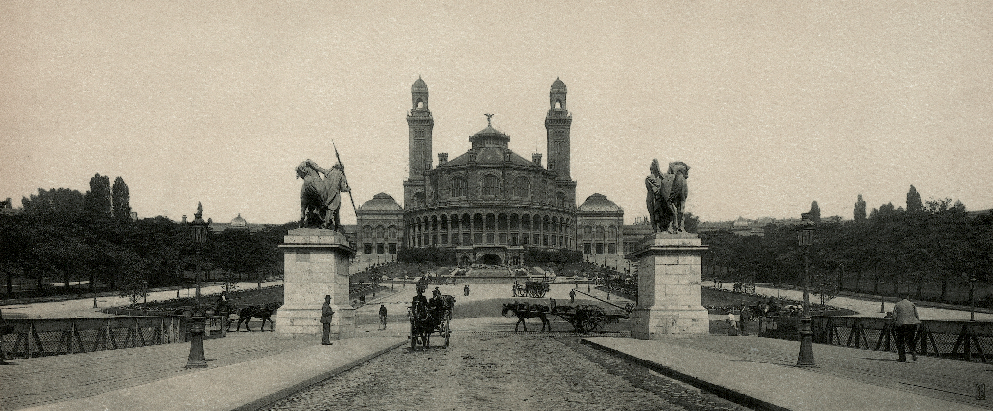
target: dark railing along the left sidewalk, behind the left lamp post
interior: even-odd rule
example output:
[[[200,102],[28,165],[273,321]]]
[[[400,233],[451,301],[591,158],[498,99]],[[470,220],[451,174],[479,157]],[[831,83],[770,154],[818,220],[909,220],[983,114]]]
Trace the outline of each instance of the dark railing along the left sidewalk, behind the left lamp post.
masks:
[[[223,337],[223,319],[206,319],[205,338]],[[5,359],[32,359],[189,341],[190,320],[179,316],[5,319]]]

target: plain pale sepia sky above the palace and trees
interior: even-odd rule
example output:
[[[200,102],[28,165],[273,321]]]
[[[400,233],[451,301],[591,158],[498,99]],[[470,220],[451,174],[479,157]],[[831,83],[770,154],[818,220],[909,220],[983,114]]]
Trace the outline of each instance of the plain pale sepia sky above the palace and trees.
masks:
[[[692,167],[704,221],[851,218],[910,184],[993,207],[989,1],[450,3],[0,2],[0,198],[99,172],[141,217],[284,223],[334,139],[356,205],[399,200],[421,75],[451,157],[484,113],[544,154],[560,77],[577,197],[628,223],[652,158]]]

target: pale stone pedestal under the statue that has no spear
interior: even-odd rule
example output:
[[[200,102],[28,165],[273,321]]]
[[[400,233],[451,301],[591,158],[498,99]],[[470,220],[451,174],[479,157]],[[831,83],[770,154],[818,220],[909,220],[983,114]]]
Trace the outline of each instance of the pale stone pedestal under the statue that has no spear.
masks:
[[[706,336],[707,309],[700,305],[700,256],[696,234],[655,233],[634,253],[638,258],[638,308],[631,336],[662,340]]]

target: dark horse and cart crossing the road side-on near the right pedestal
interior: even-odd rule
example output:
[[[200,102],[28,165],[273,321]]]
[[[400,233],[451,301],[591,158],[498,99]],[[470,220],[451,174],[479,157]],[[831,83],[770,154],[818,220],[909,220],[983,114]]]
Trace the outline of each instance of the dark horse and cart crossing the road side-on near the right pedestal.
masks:
[[[556,316],[565,320],[565,322],[572,325],[573,330],[580,334],[596,333],[603,330],[607,323],[617,322],[622,318],[629,318],[631,311],[635,308],[635,304],[629,303],[625,307],[624,314],[609,313],[605,311],[599,305],[594,304],[580,304],[575,307],[558,305],[555,303],[554,298],[549,298],[550,305],[541,304],[531,304],[528,302],[518,303],[516,301],[513,304],[503,304],[503,311],[501,315],[506,316],[506,313],[513,311],[514,315],[517,316],[517,324],[513,326],[513,332],[517,332],[517,326],[524,324],[524,332],[527,332],[527,323],[524,319],[527,318],[538,318],[541,320],[541,331],[545,331],[545,327],[548,327],[548,331],[552,331],[552,324],[548,321],[548,316]]]

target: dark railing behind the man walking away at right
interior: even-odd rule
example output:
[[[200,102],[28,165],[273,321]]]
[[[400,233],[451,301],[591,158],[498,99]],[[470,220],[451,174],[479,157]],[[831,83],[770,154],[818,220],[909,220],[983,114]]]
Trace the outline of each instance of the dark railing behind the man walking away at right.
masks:
[[[761,318],[759,335],[799,341],[799,320]],[[811,320],[814,343],[897,352],[896,323],[892,319],[813,316]],[[993,360],[993,322],[924,320],[918,327],[914,347],[923,356]]]

